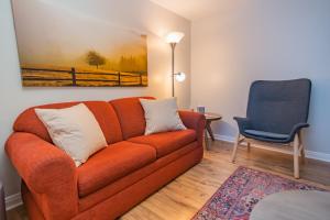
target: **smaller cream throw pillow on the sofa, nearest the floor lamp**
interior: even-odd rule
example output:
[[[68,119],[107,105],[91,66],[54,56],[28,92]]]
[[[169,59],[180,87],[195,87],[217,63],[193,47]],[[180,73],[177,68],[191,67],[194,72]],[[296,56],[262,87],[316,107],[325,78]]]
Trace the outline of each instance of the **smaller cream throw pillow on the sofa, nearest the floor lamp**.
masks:
[[[178,112],[176,98],[163,100],[140,99],[146,121],[144,134],[185,130]]]

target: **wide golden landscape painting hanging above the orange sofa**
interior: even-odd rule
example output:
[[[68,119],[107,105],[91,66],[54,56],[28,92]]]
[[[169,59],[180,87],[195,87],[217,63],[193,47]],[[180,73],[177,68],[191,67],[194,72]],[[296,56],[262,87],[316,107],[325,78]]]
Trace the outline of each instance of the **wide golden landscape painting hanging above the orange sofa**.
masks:
[[[12,0],[23,86],[147,86],[146,35],[75,2]]]

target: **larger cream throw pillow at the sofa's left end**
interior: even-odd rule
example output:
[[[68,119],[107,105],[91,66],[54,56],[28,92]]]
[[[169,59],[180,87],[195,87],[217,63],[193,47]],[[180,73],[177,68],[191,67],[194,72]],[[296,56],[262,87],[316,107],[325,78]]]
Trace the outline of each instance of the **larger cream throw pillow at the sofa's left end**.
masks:
[[[54,144],[65,151],[76,166],[108,145],[99,123],[84,103],[65,109],[35,109],[35,113]]]

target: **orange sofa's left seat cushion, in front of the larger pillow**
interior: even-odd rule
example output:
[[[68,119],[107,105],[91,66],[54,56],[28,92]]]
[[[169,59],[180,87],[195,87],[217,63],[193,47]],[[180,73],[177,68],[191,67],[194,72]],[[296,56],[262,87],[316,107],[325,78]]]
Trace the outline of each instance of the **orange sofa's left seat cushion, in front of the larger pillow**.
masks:
[[[127,141],[111,144],[77,168],[79,196],[85,197],[154,161],[156,151],[152,146]]]

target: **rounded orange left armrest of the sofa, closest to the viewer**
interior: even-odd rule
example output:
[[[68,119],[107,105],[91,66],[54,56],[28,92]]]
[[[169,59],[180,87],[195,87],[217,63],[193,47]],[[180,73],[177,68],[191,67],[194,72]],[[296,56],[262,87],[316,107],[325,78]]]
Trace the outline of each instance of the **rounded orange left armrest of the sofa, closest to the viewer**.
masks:
[[[6,152],[45,219],[65,220],[77,215],[76,166],[65,152],[23,132],[15,132],[8,139]]]

